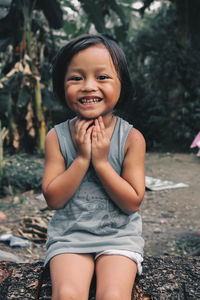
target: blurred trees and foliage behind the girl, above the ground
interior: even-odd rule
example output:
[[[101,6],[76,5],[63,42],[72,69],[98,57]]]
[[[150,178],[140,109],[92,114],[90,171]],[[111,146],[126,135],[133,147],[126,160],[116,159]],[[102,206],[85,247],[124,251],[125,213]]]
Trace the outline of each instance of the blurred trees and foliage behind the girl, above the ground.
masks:
[[[198,0],[0,0],[1,148],[43,153],[47,131],[72,116],[52,93],[52,59],[102,33],[123,48],[135,87],[117,113],[148,151],[188,151],[200,129],[199,16]]]

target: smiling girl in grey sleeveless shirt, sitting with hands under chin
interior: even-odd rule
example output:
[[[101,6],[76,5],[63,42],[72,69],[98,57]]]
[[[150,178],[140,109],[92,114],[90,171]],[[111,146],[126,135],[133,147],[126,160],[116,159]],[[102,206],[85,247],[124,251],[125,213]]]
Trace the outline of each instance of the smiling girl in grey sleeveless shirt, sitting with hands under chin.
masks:
[[[124,53],[103,36],[80,36],[59,51],[53,87],[76,117],[46,137],[52,299],[88,299],[95,270],[97,300],[130,300],[143,260],[145,141],[113,113],[132,95]]]

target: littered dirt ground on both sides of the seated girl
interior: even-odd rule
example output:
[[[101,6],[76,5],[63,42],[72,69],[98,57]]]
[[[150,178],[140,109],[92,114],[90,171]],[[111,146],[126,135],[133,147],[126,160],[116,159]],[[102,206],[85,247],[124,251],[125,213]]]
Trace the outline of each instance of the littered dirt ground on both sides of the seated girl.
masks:
[[[146,175],[188,184],[186,188],[146,191],[140,213],[143,218],[145,255],[200,255],[200,158],[195,154],[147,153]],[[24,262],[43,260],[45,232],[53,211],[40,193],[28,191],[0,199],[6,221],[0,221],[0,234],[23,233],[26,221],[31,245],[10,247],[0,242],[0,250]],[[38,222],[38,223],[37,223]],[[31,224],[37,232],[32,234]],[[39,241],[39,242],[38,242]],[[1,257],[0,260],[4,260]]]

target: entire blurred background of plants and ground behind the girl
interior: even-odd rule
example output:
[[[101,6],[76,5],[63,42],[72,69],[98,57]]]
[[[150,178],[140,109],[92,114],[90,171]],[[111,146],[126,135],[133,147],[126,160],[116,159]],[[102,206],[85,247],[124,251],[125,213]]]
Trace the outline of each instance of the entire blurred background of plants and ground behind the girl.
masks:
[[[83,33],[114,39],[127,56],[135,93],[116,113],[145,136],[146,174],[188,185],[145,194],[146,255],[200,255],[199,157],[190,149],[200,131],[199,0],[0,0],[0,237],[33,241],[0,250],[44,256],[45,136],[72,117],[52,93],[51,63]]]

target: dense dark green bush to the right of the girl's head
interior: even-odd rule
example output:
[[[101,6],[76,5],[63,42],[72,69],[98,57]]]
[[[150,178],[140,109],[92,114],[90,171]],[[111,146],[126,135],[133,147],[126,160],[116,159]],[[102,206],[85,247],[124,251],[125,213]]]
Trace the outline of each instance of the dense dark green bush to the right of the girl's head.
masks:
[[[183,48],[175,6],[144,17],[135,36],[132,70],[136,97],[132,116],[148,149],[189,150],[199,131],[198,49]]]

